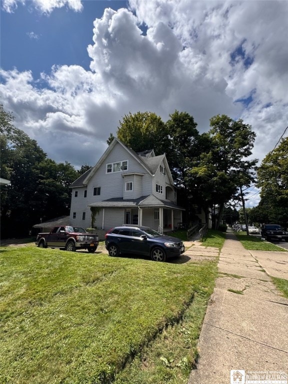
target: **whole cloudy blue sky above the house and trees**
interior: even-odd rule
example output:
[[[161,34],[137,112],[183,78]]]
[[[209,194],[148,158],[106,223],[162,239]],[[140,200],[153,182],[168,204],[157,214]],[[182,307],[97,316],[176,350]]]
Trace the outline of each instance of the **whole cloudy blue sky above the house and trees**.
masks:
[[[260,160],[288,125],[288,1],[0,5],[0,102],[57,162],[94,165],[129,112],[242,118]]]

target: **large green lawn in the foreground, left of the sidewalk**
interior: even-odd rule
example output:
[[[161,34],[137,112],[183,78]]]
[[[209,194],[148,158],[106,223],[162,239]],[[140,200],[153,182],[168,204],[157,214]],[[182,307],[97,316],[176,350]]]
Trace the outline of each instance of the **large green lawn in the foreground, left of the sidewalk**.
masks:
[[[0,382],[180,383],[215,275],[215,263],[2,247]]]

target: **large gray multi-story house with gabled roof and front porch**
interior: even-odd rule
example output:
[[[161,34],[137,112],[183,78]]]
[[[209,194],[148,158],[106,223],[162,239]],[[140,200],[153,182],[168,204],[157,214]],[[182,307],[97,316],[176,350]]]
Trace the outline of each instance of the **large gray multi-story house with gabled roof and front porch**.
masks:
[[[96,165],[70,187],[73,226],[93,225],[107,230],[136,224],[163,232],[182,222],[184,208],[176,203],[176,188],[165,154],[155,156],[153,150],[136,153],[117,138]]]

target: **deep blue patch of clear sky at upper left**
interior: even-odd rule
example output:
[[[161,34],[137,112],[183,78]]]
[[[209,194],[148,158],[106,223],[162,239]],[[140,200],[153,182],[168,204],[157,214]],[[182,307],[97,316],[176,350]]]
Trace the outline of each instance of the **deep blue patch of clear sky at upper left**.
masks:
[[[2,3],[2,1],[1,1]],[[81,65],[89,69],[87,45],[93,40],[93,21],[106,7],[126,7],[127,1],[86,0],[81,11],[67,6],[42,13],[31,1],[17,3],[13,12],[1,10],[1,67],[31,70],[35,77],[52,65]]]

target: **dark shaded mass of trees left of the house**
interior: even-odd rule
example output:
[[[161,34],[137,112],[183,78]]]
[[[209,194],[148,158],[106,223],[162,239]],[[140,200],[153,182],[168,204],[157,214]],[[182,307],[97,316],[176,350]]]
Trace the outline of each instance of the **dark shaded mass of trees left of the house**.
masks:
[[[68,185],[78,174],[68,163],[56,164],[35,140],[13,125],[0,105],[1,235],[25,235],[40,218],[69,214]]]

